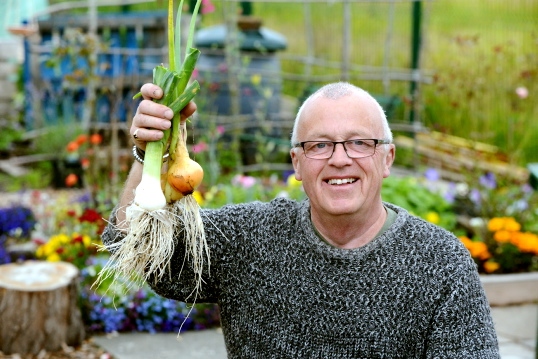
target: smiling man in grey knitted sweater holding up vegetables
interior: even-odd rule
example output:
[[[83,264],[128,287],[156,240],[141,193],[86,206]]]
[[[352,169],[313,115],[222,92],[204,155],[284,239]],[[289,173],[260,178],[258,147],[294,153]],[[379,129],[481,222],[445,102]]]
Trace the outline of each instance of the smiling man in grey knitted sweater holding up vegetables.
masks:
[[[143,87],[147,99],[159,91]],[[140,105],[131,127],[137,145],[160,136],[166,110]],[[468,251],[444,229],[382,202],[391,140],[373,97],[348,83],[326,85],[302,105],[292,134],[295,177],[308,199],[203,210],[211,271],[198,302],[219,304],[230,358],[499,358]],[[172,279],[151,285],[185,300],[194,280],[185,269],[178,279],[184,250],[176,233]],[[109,227],[104,242],[117,234]]]

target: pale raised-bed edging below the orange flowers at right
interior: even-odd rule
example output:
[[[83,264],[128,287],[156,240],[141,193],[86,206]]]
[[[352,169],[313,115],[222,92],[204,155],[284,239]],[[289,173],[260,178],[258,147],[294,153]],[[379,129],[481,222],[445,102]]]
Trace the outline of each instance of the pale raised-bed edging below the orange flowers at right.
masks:
[[[481,275],[489,304],[538,303],[538,272]]]

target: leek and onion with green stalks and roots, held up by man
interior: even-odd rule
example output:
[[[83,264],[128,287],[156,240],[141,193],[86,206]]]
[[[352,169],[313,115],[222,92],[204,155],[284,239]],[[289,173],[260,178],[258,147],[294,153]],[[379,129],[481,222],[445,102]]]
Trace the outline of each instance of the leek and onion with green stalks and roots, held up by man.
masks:
[[[195,302],[203,282],[206,260],[209,267],[209,249],[200,208],[191,195],[200,185],[203,171],[189,158],[186,126],[181,122],[180,111],[200,89],[197,81],[190,85],[189,81],[200,55],[199,50],[192,48],[192,39],[201,0],[197,1],[192,14],[187,51],[182,62],[176,49],[180,48],[183,0],[179,4],[175,32],[173,3],[173,0],[168,1],[169,68],[161,65],[153,70],[153,82],[163,90],[163,97],[155,101],[172,109],[172,126],[164,131],[160,141],[146,145],[142,179],[135,190],[133,203],[126,209],[129,230],[122,240],[108,247],[112,253],[110,260],[94,285],[109,277],[113,281],[127,277],[131,278],[133,285],[141,285],[144,281],[157,282],[169,275],[170,260],[175,250],[175,228],[179,226],[185,236],[186,257],[192,263],[196,276],[192,293],[192,301]],[[168,159],[163,161],[167,151]]]

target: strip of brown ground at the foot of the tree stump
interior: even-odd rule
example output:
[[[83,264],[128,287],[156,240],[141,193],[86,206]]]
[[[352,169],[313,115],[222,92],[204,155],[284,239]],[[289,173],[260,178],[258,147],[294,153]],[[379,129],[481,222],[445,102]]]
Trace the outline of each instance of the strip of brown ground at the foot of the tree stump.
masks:
[[[114,359],[114,357],[89,339],[76,348],[65,346],[57,352],[42,350],[37,355],[6,355],[0,352],[0,359]]]

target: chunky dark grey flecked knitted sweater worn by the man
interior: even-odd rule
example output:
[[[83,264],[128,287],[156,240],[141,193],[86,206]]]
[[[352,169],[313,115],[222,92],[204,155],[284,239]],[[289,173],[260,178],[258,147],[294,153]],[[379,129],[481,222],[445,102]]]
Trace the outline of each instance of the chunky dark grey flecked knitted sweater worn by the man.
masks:
[[[499,358],[468,251],[385,205],[396,221],[351,250],[317,237],[308,200],[203,210],[211,268],[197,302],[219,304],[229,358]],[[117,237],[109,226],[103,241]],[[185,300],[192,273],[178,279],[176,252],[173,280],[150,285]]]

